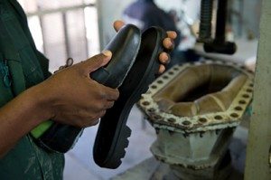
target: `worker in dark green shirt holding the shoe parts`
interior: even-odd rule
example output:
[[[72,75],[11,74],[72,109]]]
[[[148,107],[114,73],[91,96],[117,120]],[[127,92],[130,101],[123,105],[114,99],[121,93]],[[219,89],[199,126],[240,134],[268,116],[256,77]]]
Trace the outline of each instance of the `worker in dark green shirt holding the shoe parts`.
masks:
[[[123,25],[117,21],[114,27]],[[166,49],[175,37],[168,32]],[[79,128],[96,125],[114,105],[118,90],[93,81],[89,73],[111,57],[104,51],[51,75],[21,5],[0,1],[0,179],[62,179],[63,154],[38,147],[29,132],[48,119]],[[162,52],[159,60],[162,73],[168,54]]]

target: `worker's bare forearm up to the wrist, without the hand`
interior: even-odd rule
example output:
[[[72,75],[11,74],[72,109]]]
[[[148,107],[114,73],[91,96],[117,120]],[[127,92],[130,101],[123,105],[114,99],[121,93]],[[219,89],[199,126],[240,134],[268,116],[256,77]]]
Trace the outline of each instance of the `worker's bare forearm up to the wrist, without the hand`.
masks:
[[[50,118],[46,109],[36,87],[25,90],[0,109],[0,157],[14,147],[21,137]]]

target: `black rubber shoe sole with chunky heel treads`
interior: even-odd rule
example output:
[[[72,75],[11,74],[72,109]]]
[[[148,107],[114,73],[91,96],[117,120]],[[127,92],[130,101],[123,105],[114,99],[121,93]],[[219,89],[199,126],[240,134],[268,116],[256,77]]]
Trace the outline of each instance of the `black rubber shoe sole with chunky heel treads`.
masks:
[[[101,118],[93,147],[96,164],[101,167],[117,168],[125,156],[131,129],[126,120],[136,101],[154,81],[159,71],[159,54],[163,52],[166,33],[161,28],[152,27],[142,34],[140,50],[125,81],[118,88],[119,98],[113,108],[107,109]]]

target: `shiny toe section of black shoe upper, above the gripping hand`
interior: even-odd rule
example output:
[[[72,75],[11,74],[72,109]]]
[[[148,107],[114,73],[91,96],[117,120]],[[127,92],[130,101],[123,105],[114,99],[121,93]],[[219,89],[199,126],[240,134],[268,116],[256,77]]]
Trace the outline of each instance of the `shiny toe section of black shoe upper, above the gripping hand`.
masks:
[[[91,73],[90,77],[107,87],[118,88],[135,62],[140,43],[141,33],[135,25],[127,24],[122,27],[105,48],[113,53],[111,61]]]

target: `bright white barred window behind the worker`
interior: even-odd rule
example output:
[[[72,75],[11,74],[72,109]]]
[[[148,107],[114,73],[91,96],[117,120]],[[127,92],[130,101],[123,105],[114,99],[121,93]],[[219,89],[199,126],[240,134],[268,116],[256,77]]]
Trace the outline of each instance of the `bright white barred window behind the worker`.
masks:
[[[19,0],[37,49],[55,71],[71,57],[80,62],[99,52],[96,0]]]

